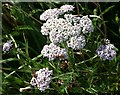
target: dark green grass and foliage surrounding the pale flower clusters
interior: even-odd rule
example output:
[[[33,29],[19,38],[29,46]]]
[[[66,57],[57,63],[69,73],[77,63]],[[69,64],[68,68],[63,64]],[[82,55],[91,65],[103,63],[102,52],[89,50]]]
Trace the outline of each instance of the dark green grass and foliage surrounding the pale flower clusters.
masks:
[[[67,65],[58,60],[49,62],[40,54],[43,46],[49,42],[40,32],[43,22],[39,20],[39,16],[49,8],[59,8],[64,4],[75,7],[73,14],[94,14],[102,18],[102,20],[91,18],[94,32],[86,35],[87,44],[81,51],[82,55],[71,54]],[[12,49],[3,53],[0,61],[2,93],[4,95],[120,93],[119,6],[120,2],[2,3],[2,42],[4,44],[7,40],[13,41]],[[95,50],[105,37],[118,48],[117,56],[112,61],[103,61],[95,57]],[[32,71],[43,67],[54,70],[50,89],[45,92],[37,89],[19,92],[20,88],[30,85]],[[62,81],[63,84],[60,84]]]

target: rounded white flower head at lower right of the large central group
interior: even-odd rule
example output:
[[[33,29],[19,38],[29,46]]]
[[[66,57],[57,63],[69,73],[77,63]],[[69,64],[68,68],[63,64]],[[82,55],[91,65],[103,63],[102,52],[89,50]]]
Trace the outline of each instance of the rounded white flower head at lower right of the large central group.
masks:
[[[85,44],[85,37],[83,35],[71,37],[67,42],[68,47],[71,47],[74,50],[84,48]]]

